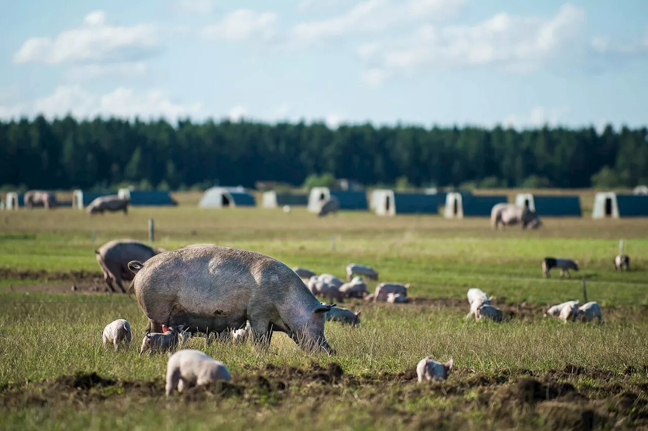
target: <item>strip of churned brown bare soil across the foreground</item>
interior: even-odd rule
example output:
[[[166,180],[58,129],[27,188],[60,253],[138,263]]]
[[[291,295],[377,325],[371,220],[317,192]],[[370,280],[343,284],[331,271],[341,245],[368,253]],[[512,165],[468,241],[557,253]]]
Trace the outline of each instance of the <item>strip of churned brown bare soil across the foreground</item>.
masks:
[[[638,371],[643,372],[643,371]],[[574,379],[589,376],[601,385],[615,377],[619,390],[610,392],[579,387]],[[645,376],[648,377],[648,376]],[[572,381],[566,381],[572,379]],[[422,382],[415,370],[375,375],[350,375],[337,363],[312,364],[309,368],[268,364],[247,368],[229,382],[194,386],[183,393],[165,395],[163,379],[124,381],[96,373],[63,375],[54,379],[0,388],[0,408],[52,408],[55,406],[99,406],[150,401],[160,408],[174,403],[195,404],[214,399],[236,399],[237,405],[273,408],[281,404],[320,403],[324,399],[364,400],[397,414],[414,428],[441,425],[470,409],[482,409],[492,420],[515,425],[520,415],[536,417],[551,429],[592,429],[619,421],[627,426],[648,426],[645,384],[630,381],[624,373],[573,365],[562,370],[502,370],[472,372],[459,367],[447,381]],[[354,395],[349,395],[353,393]],[[440,408],[406,408],[413,400],[443,398]],[[165,400],[173,401],[167,404]],[[160,404],[161,403],[161,404]],[[116,404],[115,404],[116,405]],[[385,411],[387,411],[385,410]],[[530,420],[530,419],[529,419]]]

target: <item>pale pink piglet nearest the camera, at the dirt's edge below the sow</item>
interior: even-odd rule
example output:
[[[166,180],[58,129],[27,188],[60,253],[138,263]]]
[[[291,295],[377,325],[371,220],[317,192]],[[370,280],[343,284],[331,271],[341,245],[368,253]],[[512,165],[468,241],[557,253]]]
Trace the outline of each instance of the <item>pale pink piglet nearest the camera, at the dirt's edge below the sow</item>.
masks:
[[[207,353],[200,350],[184,349],[169,355],[167,362],[167,395],[178,388],[178,392],[186,387],[202,386],[219,380],[229,381],[229,371],[225,364],[211,359]]]

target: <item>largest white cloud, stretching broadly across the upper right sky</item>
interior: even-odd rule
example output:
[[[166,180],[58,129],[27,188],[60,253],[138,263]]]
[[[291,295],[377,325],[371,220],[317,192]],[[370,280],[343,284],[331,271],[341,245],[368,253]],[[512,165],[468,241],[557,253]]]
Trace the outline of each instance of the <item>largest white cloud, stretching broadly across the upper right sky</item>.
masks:
[[[365,82],[373,85],[422,67],[500,64],[527,72],[572,48],[584,21],[584,10],[566,3],[549,19],[500,13],[472,26],[425,24],[406,38],[362,45],[357,54],[369,69]]]

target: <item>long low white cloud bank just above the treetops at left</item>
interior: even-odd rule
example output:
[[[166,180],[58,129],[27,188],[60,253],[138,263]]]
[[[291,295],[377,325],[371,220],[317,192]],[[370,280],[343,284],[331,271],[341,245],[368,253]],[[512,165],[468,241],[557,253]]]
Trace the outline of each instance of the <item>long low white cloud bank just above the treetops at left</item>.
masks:
[[[117,116],[121,118],[159,118],[176,120],[181,116],[198,113],[201,104],[181,104],[170,100],[168,94],[154,90],[135,93],[132,89],[118,87],[111,93],[97,95],[80,85],[60,85],[54,93],[44,98],[15,105],[0,106],[0,118],[43,115],[62,117],[71,113],[76,118]]]

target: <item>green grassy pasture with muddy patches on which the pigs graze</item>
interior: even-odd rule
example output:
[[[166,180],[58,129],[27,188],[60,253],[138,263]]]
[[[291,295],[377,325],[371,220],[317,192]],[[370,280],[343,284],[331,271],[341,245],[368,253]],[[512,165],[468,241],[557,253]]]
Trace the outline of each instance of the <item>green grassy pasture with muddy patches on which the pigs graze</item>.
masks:
[[[303,208],[130,208],[89,217],[71,208],[0,213],[0,428],[6,429],[589,429],[648,426],[648,222],[543,219],[491,230],[489,219],[377,217]],[[147,320],[109,294],[93,253],[110,239],[157,247],[214,243],[255,250],[343,278],[371,265],[379,282],[411,283],[406,304],[345,299],[357,328],[327,322],[331,357],[277,334],[269,351],[194,337],[229,368],[229,383],[164,395],[167,356],[139,356]],[[93,241],[93,231],[94,241]],[[631,271],[616,272],[619,238]],[[571,279],[542,278],[545,256],[578,260]],[[566,300],[603,308],[601,325],[544,318]],[[72,286],[76,291],[72,291]],[[376,282],[369,282],[369,291]],[[494,297],[507,320],[465,320],[466,292]],[[322,299],[323,300],[323,299]],[[101,345],[116,318],[128,351]],[[417,362],[454,358],[447,381],[417,383]]]

